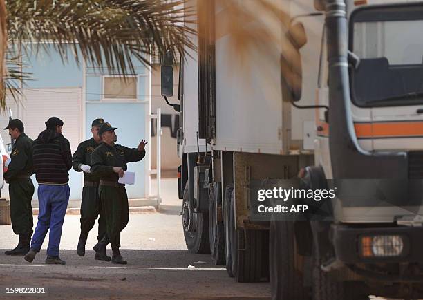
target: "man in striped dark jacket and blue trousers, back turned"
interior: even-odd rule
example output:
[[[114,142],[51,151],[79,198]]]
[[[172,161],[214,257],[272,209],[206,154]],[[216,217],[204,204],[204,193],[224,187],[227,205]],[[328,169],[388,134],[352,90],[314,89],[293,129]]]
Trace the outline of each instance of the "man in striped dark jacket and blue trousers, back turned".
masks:
[[[72,154],[69,141],[62,135],[63,121],[57,117],[47,120],[47,129],[39,133],[32,144],[32,159],[35,178],[38,182],[39,214],[31,248],[25,256],[30,263],[41,250],[48,229],[50,235],[47,247],[46,263],[64,265],[59,258],[59,245],[66,208],[68,207],[69,189],[68,171],[72,167]]]

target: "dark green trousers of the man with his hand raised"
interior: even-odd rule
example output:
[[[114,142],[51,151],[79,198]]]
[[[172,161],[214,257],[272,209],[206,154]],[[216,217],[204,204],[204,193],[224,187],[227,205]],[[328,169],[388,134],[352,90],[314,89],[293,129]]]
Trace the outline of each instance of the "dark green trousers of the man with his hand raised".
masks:
[[[120,246],[120,232],[129,221],[128,195],[125,187],[100,185],[100,200],[106,216],[107,235],[112,249]]]

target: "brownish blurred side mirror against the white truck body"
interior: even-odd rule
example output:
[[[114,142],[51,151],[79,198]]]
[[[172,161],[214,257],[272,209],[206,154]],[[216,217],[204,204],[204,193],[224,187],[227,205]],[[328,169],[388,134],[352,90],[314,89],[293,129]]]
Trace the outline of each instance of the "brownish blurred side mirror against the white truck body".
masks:
[[[297,102],[301,99],[303,69],[299,49],[307,43],[306,30],[301,22],[290,26],[285,34],[289,46],[281,53],[282,100]]]

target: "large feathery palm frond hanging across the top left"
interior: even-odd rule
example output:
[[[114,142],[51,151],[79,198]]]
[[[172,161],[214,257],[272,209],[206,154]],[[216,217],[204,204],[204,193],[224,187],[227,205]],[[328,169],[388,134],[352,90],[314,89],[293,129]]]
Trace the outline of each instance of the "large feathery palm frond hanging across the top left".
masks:
[[[151,51],[164,53],[182,46],[195,48],[185,39],[193,30],[184,26],[190,12],[183,0],[9,0],[8,32],[12,41],[35,46],[52,41],[55,50],[66,53],[70,44],[76,62],[81,58],[122,75],[133,73],[131,57],[148,65]],[[35,5],[36,3],[36,5]],[[62,59],[68,59],[63,55]]]

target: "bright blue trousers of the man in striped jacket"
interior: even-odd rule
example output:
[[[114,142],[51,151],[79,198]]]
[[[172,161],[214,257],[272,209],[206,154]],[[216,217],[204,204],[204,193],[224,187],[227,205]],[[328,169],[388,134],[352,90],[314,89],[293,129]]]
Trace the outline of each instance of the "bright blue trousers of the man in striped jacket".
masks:
[[[31,242],[33,250],[39,252],[47,231],[50,229],[47,255],[59,256],[60,238],[69,196],[71,196],[69,185],[39,185],[38,222]]]

